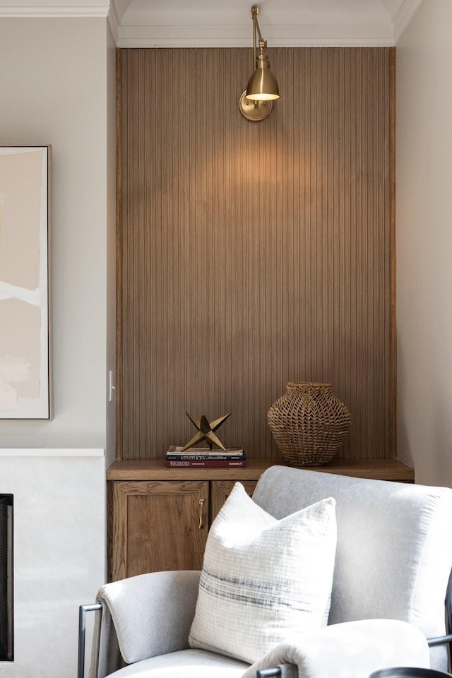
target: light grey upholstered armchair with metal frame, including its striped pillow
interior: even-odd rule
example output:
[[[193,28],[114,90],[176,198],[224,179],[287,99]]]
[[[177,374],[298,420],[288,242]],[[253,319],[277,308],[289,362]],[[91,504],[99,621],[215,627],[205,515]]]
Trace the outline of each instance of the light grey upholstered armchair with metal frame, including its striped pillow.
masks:
[[[78,678],[90,609],[90,678],[446,671],[451,519],[452,489],[273,466],[252,501],[234,487],[201,578],[144,574],[81,607]]]

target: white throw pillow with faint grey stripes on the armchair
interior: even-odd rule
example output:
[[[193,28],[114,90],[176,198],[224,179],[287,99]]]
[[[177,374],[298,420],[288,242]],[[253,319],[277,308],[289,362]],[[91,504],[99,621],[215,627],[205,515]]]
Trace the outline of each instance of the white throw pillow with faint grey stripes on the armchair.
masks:
[[[335,500],[277,521],[237,482],[213,522],[189,644],[250,664],[328,622]]]

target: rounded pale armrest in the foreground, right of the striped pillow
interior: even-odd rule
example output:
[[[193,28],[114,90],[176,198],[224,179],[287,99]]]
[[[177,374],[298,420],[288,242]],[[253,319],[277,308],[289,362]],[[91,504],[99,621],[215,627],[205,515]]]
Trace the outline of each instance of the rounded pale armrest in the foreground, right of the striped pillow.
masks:
[[[287,678],[367,678],[391,666],[428,668],[427,639],[407,622],[364,619],[290,638],[249,667],[242,678],[256,678],[258,670],[270,667],[280,667],[280,675]]]

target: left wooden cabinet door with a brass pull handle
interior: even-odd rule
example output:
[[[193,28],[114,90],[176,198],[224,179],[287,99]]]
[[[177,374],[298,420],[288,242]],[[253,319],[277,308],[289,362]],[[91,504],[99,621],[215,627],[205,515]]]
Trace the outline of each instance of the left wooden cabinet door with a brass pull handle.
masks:
[[[112,482],[109,579],[201,569],[208,531],[208,482]]]

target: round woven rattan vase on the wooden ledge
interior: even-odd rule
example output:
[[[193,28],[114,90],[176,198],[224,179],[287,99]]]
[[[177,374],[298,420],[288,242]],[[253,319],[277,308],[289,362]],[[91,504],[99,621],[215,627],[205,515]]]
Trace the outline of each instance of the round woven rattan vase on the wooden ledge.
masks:
[[[328,463],[347,434],[350,412],[331,383],[289,381],[286,388],[267,412],[280,453],[292,466]]]

